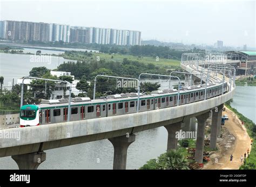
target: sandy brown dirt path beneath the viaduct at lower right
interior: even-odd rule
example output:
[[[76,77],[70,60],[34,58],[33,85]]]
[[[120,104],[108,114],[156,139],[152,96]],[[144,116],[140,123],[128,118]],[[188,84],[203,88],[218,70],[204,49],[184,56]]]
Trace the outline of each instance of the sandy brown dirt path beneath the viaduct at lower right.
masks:
[[[203,169],[239,169],[241,164],[241,155],[247,155],[247,148],[251,152],[251,139],[246,132],[246,128],[231,110],[227,109],[223,115],[227,114],[229,120],[225,121],[224,138],[218,139],[219,150],[213,154],[211,161],[205,164]],[[233,161],[230,161],[230,155],[233,155]]]

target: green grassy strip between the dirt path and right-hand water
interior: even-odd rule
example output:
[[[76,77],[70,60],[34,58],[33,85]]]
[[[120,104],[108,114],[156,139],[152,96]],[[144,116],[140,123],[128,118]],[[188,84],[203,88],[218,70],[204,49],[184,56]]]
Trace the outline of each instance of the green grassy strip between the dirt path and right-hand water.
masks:
[[[253,144],[251,148],[250,155],[246,158],[245,164],[240,167],[240,169],[256,169],[256,126],[251,119],[246,118],[244,115],[239,113],[237,109],[231,107],[230,103],[232,99],[225,103],[225,106],[228,107],[231,111],[237,114],[238,118],[241,121],[244,121],[244,125],[246,127],[247,133],[253,139]]]

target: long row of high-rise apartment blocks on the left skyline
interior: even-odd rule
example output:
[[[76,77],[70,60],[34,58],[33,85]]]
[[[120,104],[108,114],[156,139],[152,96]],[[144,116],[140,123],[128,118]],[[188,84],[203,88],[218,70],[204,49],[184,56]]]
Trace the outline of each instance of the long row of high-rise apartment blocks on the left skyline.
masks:
[[[0,21],[0,38],[14,41],[63,41],[89,44],[140,45],[141,32],[29,21]]]

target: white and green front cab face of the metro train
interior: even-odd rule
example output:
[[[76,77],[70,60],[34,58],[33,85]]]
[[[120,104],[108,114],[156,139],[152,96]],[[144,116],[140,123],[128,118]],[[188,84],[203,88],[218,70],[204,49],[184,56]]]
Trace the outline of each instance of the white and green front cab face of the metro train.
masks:
[[[39,125],[39,107],[36,105],[23,105],[19,114],[21,127]]]

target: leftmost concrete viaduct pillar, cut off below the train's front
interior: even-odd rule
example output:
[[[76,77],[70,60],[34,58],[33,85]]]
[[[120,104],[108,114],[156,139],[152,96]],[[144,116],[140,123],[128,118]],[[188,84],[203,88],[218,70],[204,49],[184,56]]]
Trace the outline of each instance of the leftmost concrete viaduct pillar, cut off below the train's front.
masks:
[[[37,169],[46,160],[46,153],[36,152],[22,155],[12,155],[12,159],[18,164],[19,169]]]

